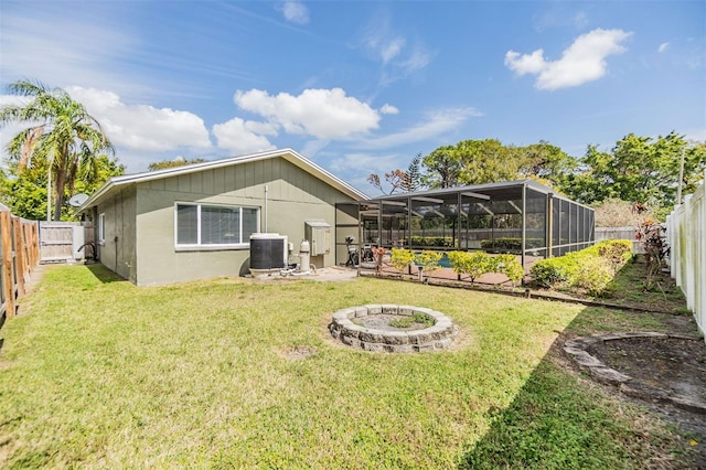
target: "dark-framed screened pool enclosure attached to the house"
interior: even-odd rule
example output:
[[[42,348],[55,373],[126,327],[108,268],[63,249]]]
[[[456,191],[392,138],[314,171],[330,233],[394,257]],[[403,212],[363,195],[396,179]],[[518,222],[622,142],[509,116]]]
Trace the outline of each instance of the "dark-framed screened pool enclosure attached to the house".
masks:
[[[561,256],[593,244],[593,210],[536,181],[400,193],[336,205],[336,263],[356,245]],[[349,238],[350,243],[350,238]]]

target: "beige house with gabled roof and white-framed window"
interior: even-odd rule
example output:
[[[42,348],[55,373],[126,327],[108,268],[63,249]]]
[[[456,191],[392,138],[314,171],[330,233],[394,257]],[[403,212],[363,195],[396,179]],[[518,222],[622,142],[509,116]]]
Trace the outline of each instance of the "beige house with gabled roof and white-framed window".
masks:
[[[335,234],[342,202],[366,195],[291,149],[116,177],[79,209],[95,225],[97,258],[138,286],[249,270],[249,235],[278,233],[293,247],[327,231],[311,263],[345,260]],[[336,250],[342,253],[336,253]]]

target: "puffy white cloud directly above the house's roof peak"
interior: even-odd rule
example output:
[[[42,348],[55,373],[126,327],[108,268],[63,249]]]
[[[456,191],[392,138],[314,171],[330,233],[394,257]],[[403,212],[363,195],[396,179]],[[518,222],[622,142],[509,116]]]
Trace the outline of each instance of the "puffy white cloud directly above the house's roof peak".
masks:
[[[281,126],[285,131],[318,139],[344,139],[376,129],[379,114],[367,104],[346,96],[341,88],[304,89],[299,96],[269,95],[260,89],[237,90],[235,104],[242,109]]]

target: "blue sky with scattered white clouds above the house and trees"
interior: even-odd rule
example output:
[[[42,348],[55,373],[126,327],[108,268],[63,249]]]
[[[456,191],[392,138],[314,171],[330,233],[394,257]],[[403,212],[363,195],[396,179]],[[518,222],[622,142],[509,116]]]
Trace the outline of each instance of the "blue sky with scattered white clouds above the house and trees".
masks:
[[[706,2],[2,0],[20,78],[84,103],[129,173],[291,147],[374,195],[464,139],[706,140]]]

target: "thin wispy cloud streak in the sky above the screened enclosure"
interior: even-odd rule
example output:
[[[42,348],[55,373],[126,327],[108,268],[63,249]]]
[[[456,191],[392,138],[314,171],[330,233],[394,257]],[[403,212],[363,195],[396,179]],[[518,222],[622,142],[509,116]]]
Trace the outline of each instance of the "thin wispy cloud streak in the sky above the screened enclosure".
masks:
[[[427,115],[426,119],[402,132],[362,141],[361,147],[386,149],[407,143],[435,139],[458,129],[471,117],[483,116],[474,108],[437,109]]]

